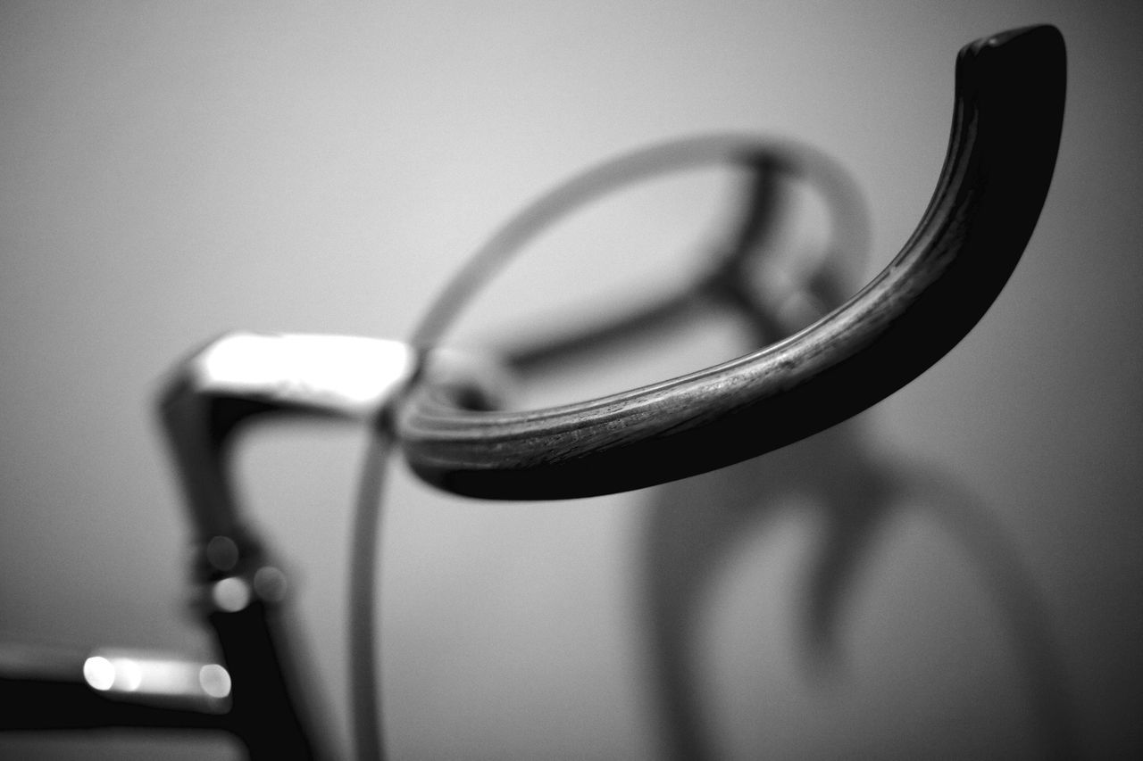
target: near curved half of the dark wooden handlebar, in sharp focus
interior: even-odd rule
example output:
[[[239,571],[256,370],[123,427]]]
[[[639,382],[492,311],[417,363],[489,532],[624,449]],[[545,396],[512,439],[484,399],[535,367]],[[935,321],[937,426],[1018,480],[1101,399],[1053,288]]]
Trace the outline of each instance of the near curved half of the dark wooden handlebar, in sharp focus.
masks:
[[[398,420],[409,464],[469,496],[612,494],[765,454],[885,399],[968,334],[1016,266],[1052,182],[1065,80],[1052,26],[962,48],[949,152],[916,232],[805,330],[700,373],[549,409],[469,410],[416,386]]]

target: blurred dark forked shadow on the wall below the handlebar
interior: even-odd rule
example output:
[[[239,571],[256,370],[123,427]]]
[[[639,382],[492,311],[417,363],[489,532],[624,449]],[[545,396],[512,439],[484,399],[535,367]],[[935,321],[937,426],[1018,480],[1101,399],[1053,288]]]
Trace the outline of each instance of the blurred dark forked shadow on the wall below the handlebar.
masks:
[[[792,502],[791,497],[797,497]],[[807,499],[808,497],[808,499]],[[846,609],[874,545],[905,510],[926,508],[991,592],[1013,642],[1040,758],[1074,759],[1069,688],[1044,602],[1001,526],[969,490],[930,467],[870,451],[861,418],[766,456],[654,491],[640,547],[647,688],[662,756],[718,758],[697,631],[726,560],[791,504],[817,513],[824,532],[791,625],[807,678],[844,679]]]

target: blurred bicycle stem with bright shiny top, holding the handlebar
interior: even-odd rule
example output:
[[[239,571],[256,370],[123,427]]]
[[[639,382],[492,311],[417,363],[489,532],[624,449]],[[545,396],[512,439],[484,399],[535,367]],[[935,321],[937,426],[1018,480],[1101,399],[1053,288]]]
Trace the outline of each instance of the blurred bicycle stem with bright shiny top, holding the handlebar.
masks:
[[[381,338],[239,331],[181,361],[158,406],[197,539],[251,538],[230,473],[235,436],[251,423],[282,416],[368,423],[417,371],[457,398],[498,400],[498,367],[447,350],[417,354]]]

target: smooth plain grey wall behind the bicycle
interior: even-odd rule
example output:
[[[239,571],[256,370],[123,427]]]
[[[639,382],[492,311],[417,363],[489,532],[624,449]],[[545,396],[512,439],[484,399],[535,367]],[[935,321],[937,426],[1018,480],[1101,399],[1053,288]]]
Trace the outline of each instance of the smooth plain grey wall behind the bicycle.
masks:
[[[960,346],[844,435],[573,503],[465,500],[397,468],[386,722],[401,759],[661,756],[646,599],[656,578],[694,580],[679,559],[703,582],[695,689],[720,758],[1042,758],[1069,738],[1138,756],[1132,2],[3,3],[2,636],[209,652],[151,409],[161,375],[208,338],[403,337],[536,193],[711,130],[842,162],[871,214],[870,274],[936,182],[957,50],[1040,22],[1068,41],[1069,103],[1024,261]],[[682,280],[694,265],[672,225],[703,211],[688,192],[601,213],[602,242],[537,249],[458,337],[522,336]],[[696,329],[533,393],[577,399],[742,350]],[[352,428],[283,427],[239,462],[342,734],[360,451]],[[881,476],[912,487],[868,488]],[[0,738],[11,758],[160,748],[234,755],[221,740]]]

